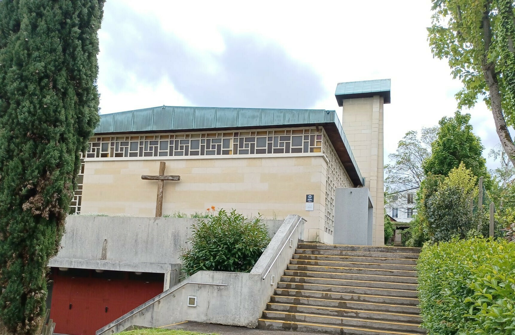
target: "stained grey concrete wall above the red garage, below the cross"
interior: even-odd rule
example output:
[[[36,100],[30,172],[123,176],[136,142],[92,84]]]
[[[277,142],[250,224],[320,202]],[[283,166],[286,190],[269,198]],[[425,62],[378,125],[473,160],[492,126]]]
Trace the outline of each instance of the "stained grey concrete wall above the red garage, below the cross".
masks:
[[[180,265],[179,255],[188,246],[196,220],[71,215],[50,266],[166,273],[170,265]],[[270,236],[282,222],[264,220]]]

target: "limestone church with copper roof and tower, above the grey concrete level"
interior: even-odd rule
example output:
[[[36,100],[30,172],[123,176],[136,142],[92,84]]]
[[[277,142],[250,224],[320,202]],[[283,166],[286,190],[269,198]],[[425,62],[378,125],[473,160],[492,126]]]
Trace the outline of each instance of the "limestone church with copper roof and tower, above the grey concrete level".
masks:
[[[335,192],[366,187],[383,241],[383,104],[389,80],[340,83],[335,110],[160,106],[101,115],[84,154],[75,213],[155,215],[160,162],[162,214],[236,209],[249,216],[307,219],[306,237],[334,242]],[[308,198],[309,196],[313,198]],[[312,202],[307,202],[312,201]],[[308,203],[306,205],[306,203]]]

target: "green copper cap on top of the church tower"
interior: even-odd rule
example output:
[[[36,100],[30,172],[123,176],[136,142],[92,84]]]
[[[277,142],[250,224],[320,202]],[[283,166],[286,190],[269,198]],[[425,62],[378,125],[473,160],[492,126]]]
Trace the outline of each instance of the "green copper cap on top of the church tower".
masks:
[[[390,103],[390,82],[390,79],[379,79],[338,83],[334,95],[340,107],[344,99],[369,98],[376,95],[383,97],[384,103]]]

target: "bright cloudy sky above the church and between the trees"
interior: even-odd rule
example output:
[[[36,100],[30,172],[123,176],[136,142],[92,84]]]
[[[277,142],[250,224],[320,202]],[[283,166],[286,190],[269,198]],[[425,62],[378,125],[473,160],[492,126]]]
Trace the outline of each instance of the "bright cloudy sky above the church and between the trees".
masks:
[[[101,113],[163,104],[339,110],[338,82],[391,78],[387,156],[407,131],[456,109],[461,84],[427,44],[430,9],[430,0],[108,0]],[[499,142],[491,113],[482,102],[469,113],[486,155]]]

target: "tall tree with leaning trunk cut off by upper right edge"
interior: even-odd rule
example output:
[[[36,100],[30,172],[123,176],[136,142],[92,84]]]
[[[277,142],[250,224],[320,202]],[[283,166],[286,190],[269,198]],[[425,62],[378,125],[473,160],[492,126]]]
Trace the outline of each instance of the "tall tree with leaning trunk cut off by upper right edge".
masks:
[[[432,0],[428,40],[433,55],[447,59],[454,78],[464,84],[458,108],[478,97],[491,109],[495,130],[515,164],[515,15],[511,0]]]

